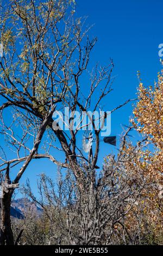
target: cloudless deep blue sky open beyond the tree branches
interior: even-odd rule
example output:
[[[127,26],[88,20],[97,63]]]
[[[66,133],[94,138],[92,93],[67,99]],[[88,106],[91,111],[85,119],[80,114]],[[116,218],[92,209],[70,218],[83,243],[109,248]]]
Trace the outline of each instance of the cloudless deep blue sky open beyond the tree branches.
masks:
[[[93,28],[89,32],[98,41],[91,55],[91,65],[114,60],[116,76],[114,92],[105,102],[105,110],[111,110],[120,103],[135,97],[139,84],[136,72],[140,70],[146,85],[154,83],[161,69],[158,45],[163,43],[163,1],[161,0],[77,0],[76,15],[88,16],[87,24]],[[111,135],[120,135],[121,124],[128,124],[132,106],[127,105],[112,115]],[[112,146],[101,145],[100,159],[113,150]],[[37,164],[36,164],[37,163]],[[35,161],[24,173],[35,187],[35,177],[45,172],[55,178],[53,163]]]

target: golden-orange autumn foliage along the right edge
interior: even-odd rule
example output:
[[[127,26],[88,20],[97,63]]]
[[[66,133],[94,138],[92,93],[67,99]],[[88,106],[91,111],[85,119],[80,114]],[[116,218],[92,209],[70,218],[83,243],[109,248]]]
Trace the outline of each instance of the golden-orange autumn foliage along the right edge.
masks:
[[[126,227],[131,232],[133,228],[141,228],[142,233],[149,228],[157,239],[163,230],[163,70],[158,74],[154,87],[146,88],[140,82],[138,98],[131,123],[142,136],[147,137],[148,147],[140,147],[126,168],[133,176],[131,186],[141,184],[141,180],[146,180],[146,184],[142,199],[127,217]],[[129,145],[126,154],[130,155],[133,148]],[[137,221],[140,221],[140,216],[141,226]]]

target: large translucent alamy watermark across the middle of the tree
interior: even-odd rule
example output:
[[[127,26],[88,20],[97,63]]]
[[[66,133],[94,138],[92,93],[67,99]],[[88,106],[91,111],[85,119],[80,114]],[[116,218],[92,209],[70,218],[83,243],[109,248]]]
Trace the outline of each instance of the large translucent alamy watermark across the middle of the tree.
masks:
[[[55,111],[53,113],[54,130],[96,130],[101,131],[101,136],[109,136],[111,133],[111,112],[110,111],[73,111],[65,107],[64,113]]]

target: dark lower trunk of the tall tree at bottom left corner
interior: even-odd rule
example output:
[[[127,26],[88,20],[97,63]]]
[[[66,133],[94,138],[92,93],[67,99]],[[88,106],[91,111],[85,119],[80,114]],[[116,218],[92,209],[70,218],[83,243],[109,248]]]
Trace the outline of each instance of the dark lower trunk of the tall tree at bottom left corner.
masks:
[[[1,245],[14,245],[14,235],[11,229],[10,207],[11,193],[4,193],[1,204]]]

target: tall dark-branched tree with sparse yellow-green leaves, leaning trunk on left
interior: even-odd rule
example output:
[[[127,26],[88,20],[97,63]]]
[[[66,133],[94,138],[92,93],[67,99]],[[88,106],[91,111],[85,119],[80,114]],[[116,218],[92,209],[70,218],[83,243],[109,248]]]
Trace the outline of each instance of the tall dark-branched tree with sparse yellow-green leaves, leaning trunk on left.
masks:
[[[96,176],[101,129],[96,130],[95,121],[91,121],[95,150],[91,153],[90,163],[90,158],[77,144],[78,129],[70,132],[55,129],[57,124],[53,125],[52,118],[55,110],[63,112],[64,107],[69,107],[72,113],[78,110],[81,115],[85,112],[89,116],[89,110],[98,110],[112,90],[112,60],[106,67],[96,66],[87,85],[82,83],[97,39],[90,40],[87,36],[90,28],[85,27],[85,20],[74,18],[73,2],[23,0],[11,1],[7,6],[1,3],[0,29],[4,50],[0,59],[1,134],[15,154],[11,159],[4,148],[2,150],[0,172],[5,172],[8,185],[18,184],[29,163],[40,158],[72,169],[81,190],[85,179],[81,161],[85,169],[91,169]],[[85,90],[88,87],[90,89]],[[6,118],[9,112],[12,113],[10,123]],[[45,140],[47,134],[48,141]],[[39,147],[43,142],[44,151]],[[65,161],[57,160],[58,151]],[[12,181],[11,168],[17,170]],[[1,229],[3,243],[7,245],[14,243],[10,225],[14,189],[10,186],[8,191],[3,191]]]

